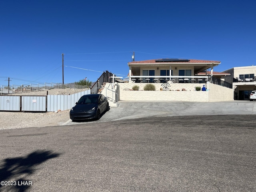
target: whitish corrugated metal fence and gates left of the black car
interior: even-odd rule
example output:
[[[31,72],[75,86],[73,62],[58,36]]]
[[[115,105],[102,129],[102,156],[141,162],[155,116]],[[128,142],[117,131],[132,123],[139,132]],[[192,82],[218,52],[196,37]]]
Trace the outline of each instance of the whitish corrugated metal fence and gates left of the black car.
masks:
[[[72,95],[0,96],[0,111],[50,112],[69,110],[90,90]]]

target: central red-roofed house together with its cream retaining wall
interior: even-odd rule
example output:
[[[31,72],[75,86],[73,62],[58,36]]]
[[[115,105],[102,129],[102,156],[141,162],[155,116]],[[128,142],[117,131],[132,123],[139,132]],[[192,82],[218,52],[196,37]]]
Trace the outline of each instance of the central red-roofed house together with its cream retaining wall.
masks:
[[[118,83],[113,88],[120,100],[127,101],[230,101],[233,100],[232,84],[223,81],[230,74],[213,71],[220,63],[176,58],[128,62],[128,83]],[[146,91],[148,83],[154,85],[155,91]],[[206,87],[206,91],[197,91],[198,87]],[[104,94],[112,94],[114,98],[107,89]]]

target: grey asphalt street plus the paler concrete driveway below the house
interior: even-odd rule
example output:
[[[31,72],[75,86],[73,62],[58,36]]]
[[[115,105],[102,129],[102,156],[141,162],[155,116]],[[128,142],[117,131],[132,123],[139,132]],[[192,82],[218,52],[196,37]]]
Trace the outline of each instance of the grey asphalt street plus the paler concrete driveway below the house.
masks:
[[[255,103],[124,102],[114,122],[0,130],[0,181],[16,184],[0,191],[255,191]]]

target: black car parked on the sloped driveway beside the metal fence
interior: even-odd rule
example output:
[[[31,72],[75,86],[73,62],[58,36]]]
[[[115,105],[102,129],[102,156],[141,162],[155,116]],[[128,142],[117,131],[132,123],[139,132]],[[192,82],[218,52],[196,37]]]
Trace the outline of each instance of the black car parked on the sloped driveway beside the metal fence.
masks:
[[[72,121],[86,119],[100,119],[103,112],[110,110],[107,98],[102,94],[82,96],[70,110]]]

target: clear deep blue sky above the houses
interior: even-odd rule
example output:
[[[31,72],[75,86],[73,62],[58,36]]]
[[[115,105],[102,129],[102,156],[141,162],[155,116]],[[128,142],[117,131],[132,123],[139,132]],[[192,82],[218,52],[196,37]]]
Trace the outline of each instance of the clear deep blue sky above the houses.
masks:
[[[135,60],[256,65],[255,0],[0,0],[0,85],[126,77]]]

